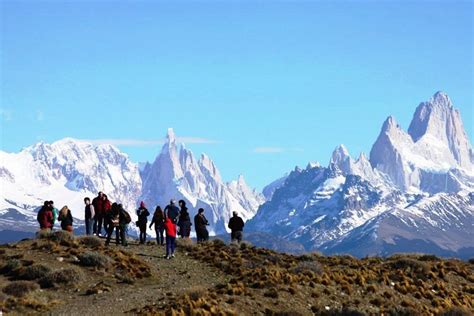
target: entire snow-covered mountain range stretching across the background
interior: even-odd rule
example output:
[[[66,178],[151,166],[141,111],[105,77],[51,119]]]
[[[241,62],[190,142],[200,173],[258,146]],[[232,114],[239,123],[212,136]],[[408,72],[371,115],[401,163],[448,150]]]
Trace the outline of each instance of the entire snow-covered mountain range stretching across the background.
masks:
[[[142,164],[71,138],[0,152],[0,240],[34,232],[46,199],[69,205],[80,226],[84,196],[104,191],[130,211],[140,200],[153,210],[183,199],[191,215],[206,210],[215,235],[237,211],[257,242],[278,240],[288,252],[474,256],[474,153],[445,93],[419,104],[408,131],[388,117],[369,156],[339,145],[326,166],[296,167],[262,193],[243,176],[224,182],[207,155],[196,159],[176,139],[169,129],[156,159]]]

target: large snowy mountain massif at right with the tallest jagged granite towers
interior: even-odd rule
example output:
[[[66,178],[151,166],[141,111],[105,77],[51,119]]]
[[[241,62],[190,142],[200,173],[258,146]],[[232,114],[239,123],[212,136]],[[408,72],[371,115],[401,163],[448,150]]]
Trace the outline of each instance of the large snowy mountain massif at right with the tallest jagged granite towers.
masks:
[[[459,112],[438,92],[408,133],[389,117],[370,160],[340,145],[327,167],[296,168],[247,226],[327,253],[474,255],[473,161]]]

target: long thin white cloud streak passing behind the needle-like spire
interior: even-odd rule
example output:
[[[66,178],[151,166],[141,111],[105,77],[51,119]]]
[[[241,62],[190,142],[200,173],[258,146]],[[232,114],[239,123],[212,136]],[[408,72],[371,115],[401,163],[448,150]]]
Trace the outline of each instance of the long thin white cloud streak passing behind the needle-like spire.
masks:
[[[166,139],[136,139],[136,138],[102,138],[102,139],[80,139],[80,141],[88,142],[95,145],[114,145],[114,146],[156,146],[163,145]],[[216,144],[216,140],[201,137],[176,137],[177,143],[184,144]]]

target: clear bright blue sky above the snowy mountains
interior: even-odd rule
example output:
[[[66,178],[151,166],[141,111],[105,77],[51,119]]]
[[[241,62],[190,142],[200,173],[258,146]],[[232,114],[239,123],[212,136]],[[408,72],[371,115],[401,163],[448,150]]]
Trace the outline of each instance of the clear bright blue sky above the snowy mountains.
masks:
[[[167,128],[224,180],[369,153],[446,92],[473,139],[470,1],[0,1],[0,150],[64,137],[153,161]]]

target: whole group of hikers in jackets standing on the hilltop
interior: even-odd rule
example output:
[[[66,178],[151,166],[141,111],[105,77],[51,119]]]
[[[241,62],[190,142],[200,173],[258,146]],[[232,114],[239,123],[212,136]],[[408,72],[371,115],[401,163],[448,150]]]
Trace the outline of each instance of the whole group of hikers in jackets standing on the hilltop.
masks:
[[[106,194],[99,192],[97,197],[92,201],[89,197],[84,198],[85,204],[85,227],[86,235],[94,234],[99,237],[106,237],[106,245],[109,245],[112,234],[115,230],[116,243],[127,246],[127,227],[131,222],[130,214],[124,209],[122,204],[111,203]],[[158,205],[148,225],[148,216],[150,212],[142,201],[140,207],[136,211],[138,220],[137,227],[140,230],[140,244],[146,242],[147,227],[155,226],[156,243],[164,245],[166,242],[166,258],[174,257],[176,248],[176,238],[189,238],[191,235],[191,217],[189,215],[186,201],[179,200],[178,206],[175,200],[164,208]],[[44,202],[43,207],[39,210],[37,216],[41,230],[51,230],[56,221],[61,222],[63,230],[73,232],[73,218],[71,210],[64,206],[60,211],[54,207],[53,201]],[[204,209],[199,208],[194,216],[194,227],[196,230],[196,239],[198,243],[205,242],[209,239],[207,226],[209,221],[204,215]],[[233,212],[232,218],[229,220],[229,229],[231,229],[231,239],[235,242],[242,241],[242,231],[244,221]],[[102,234],[104,228],[105,235]]]

